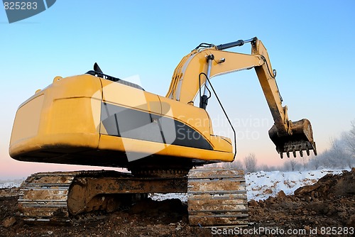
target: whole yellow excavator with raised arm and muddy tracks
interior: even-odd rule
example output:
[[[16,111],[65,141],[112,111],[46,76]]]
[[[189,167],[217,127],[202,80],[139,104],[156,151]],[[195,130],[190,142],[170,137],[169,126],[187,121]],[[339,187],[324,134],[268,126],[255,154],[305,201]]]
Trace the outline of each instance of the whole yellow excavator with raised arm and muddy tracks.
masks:
[[[251,43],[250,55],[226,51],[245,43]],[[84,75],[55,77],[19,106],[9,153],[21,161],[131,172],[33,174],[22,184],[18,200],[24,219],[70,223],[90,211],[114,211],[148,193],[187,192],[190,224],[247,224],[243,172],[193,167],[234,160],[235,136],[214,135],[206,110],[209,97],[217,97],[210,79],[251,68],[275,121],[269,136],[281,158],[297,151],[317,155],[310,121],[289,120],[258,38],[200,44],[176,67],[165,97],[106,75],[95,63]]]

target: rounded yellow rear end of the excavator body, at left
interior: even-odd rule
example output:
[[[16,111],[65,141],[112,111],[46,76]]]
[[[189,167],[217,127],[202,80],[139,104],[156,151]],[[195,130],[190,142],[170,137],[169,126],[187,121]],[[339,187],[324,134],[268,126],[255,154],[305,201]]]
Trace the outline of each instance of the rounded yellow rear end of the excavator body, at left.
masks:
[[[21,104],[11,133],[11,157],[47,149],[97,148],[94,118],[99,121],[101,98],[92,96],[100,88],[99,80],[89,75],[56,77],[53,84]]]

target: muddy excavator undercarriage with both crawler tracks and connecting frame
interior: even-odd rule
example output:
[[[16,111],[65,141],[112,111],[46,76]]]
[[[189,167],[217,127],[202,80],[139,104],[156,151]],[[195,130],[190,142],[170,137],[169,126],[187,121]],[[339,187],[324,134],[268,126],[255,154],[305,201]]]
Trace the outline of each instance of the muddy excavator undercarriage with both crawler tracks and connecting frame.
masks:
[[[28,223],[72,224],[80,216],[129,206],[148,193],[187,192],[190,225],[248,224],[242,171],[200,168],[190,170],[188,177],[183,172],[153,174],[158,177],[104,170],[41,172],[21,185],[18,204],[23,220]]]

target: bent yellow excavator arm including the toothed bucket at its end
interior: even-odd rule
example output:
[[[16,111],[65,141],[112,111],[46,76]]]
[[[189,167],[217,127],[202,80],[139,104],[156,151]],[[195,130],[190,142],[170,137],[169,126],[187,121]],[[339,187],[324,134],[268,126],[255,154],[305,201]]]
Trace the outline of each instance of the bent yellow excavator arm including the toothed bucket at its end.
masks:
[[[251,43],[250,55],[225,51],[227,48],[241,46],[244,43]],[[197,94],[200,94],[200,107],[206,109],[209,82],[206,77],[201,77],[202,73],[210,79],[229,72],[251,68],[256,70],[273,116],[275,123],[269,130],[269,136],[275,143],[281,158],[283,158],[283,153],[287,153],[290,157],[290,152],[292,152],[295,156],[296,151],[299,151],[302,156],[304,150],[307,155],[310,155],[310,150],[317,155],[310,121],[304,118],[292,122],[288,119],[288,108],[282,105],[268,52],[258,38],[238,40],[224,45],[202,43],[182,58],[175,69],[166,97],[191,104]]]

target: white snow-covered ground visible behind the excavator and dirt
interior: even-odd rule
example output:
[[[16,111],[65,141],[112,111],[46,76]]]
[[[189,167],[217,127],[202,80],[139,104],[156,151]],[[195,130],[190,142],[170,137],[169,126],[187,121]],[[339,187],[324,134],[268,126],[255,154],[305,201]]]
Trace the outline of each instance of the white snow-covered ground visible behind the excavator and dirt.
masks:
[[[285,194],[293,194],[295,189],[314,184],[324,175],[328,173],[339,174],[342,170],[310,170],[310,171],[295,171],[295,172],[254,172],[246,174],[246,186],[248,200],[254,199],[264,200],[270,196],[275,196],[283,190]],[[0,188],[19,187],[23,180],[0,180]],[[187,202],[187,194],[152,194],[152,199],[181,199],[182,202]]]

